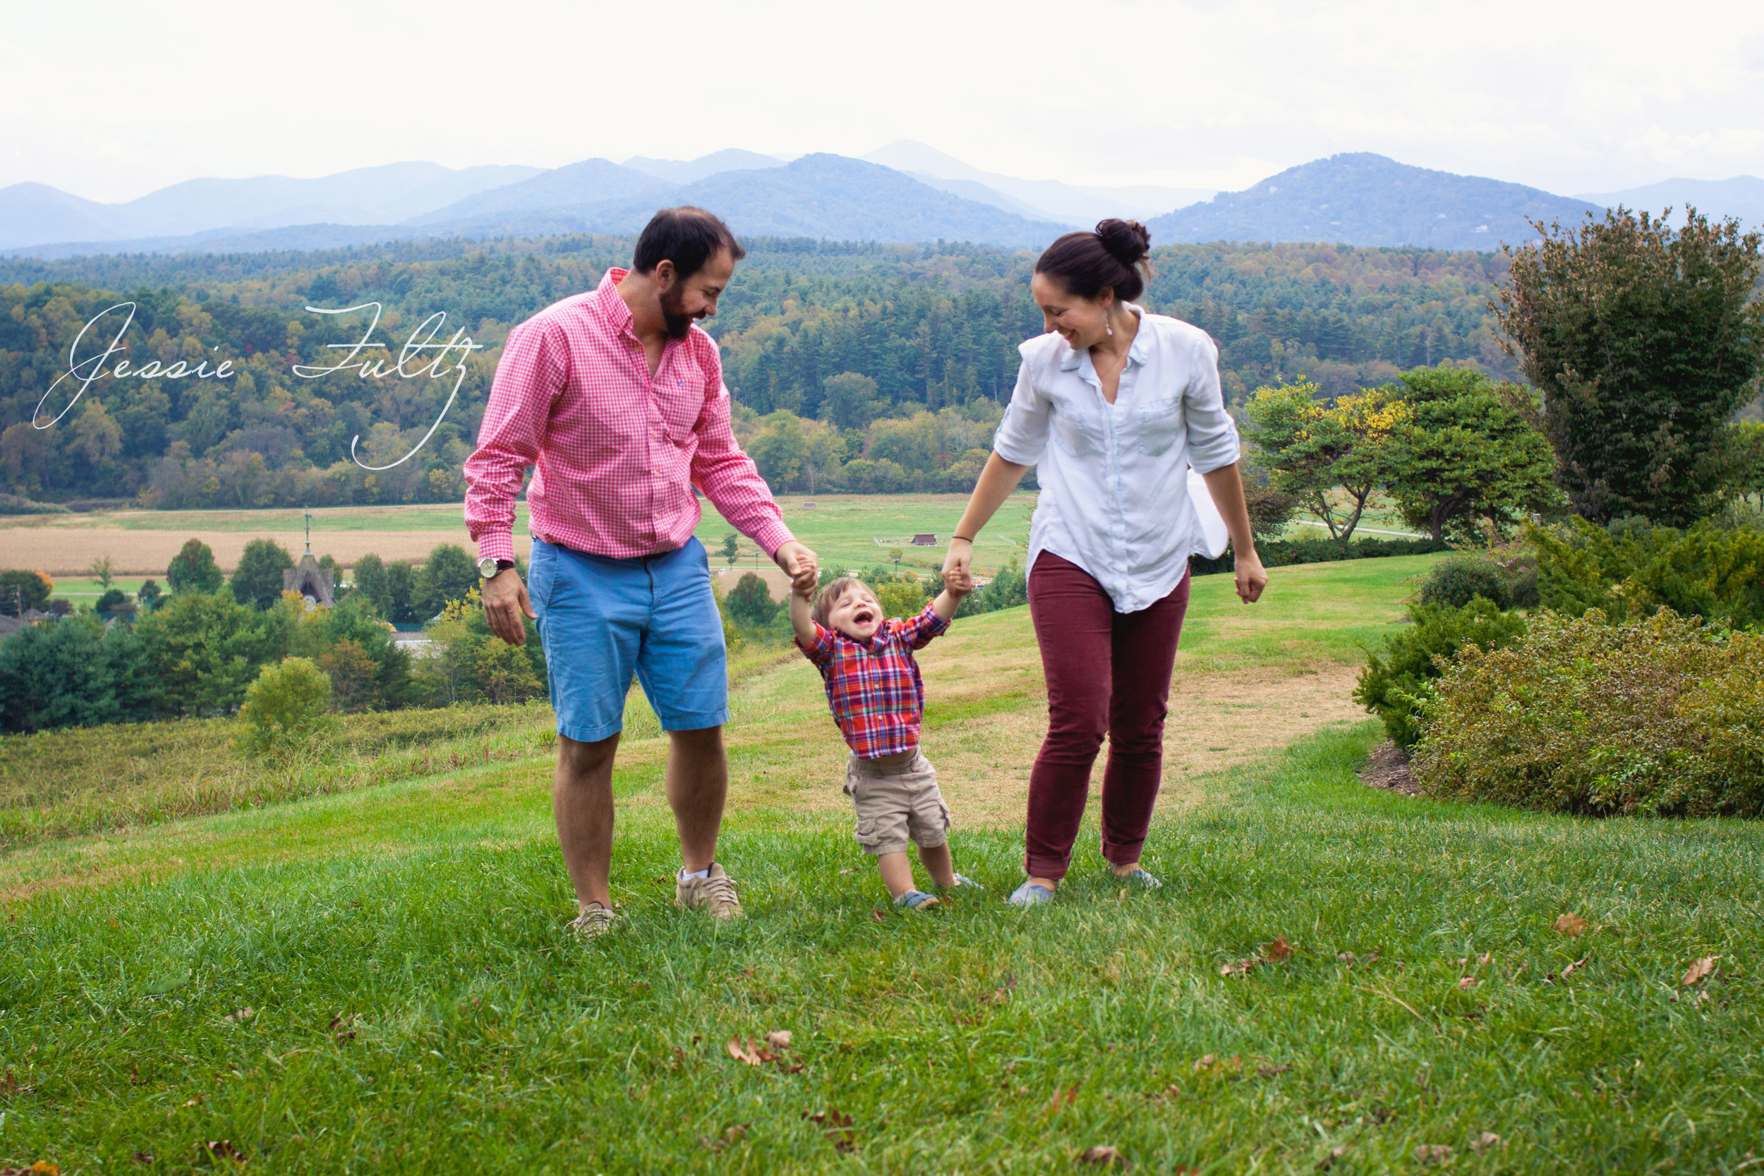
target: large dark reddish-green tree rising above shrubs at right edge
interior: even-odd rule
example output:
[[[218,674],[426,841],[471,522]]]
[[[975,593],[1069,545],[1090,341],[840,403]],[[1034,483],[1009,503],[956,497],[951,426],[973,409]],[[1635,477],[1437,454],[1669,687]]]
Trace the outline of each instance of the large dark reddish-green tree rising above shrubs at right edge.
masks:
[[[1616,208],[1506,249],[1494,312],[1544,393],[1556,478],[1579,515],[1685,525],[1734,487],[1736,409],[1764,372],[1759,233]]]

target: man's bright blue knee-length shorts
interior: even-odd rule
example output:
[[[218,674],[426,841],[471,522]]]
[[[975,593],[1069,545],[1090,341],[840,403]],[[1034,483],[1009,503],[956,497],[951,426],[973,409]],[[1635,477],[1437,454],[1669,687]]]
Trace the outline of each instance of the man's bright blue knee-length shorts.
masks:
[[[596,742],[623,730],[633,670],[663,730],[729,721],[723,617],[699,540],[637,559],[533,540],[527,594],[559,735]]]

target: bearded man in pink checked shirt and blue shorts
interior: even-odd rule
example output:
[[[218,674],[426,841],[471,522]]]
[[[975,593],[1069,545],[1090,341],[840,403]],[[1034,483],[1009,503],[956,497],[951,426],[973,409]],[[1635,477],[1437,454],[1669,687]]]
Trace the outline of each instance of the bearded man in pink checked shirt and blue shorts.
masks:
[[[729,792],[723,723],[729,675],[693,487],[806,591],[815,555],[729,425],[716,342],[695,319],[716,314],[746,254],[702,208],[665,208],[637,240],[632,270],[547,307],[508,335],[466,460],[466,522],[478,543],[483,612],[512,645],[538,621],[557,712],[552,813],[584,936],[617,915],[612,758],[635,672],[670,735],[667,795],[683,867],[674,903],[741,913],[716,864]],[[515,495],[527,487],[533,594],[513,569]]]

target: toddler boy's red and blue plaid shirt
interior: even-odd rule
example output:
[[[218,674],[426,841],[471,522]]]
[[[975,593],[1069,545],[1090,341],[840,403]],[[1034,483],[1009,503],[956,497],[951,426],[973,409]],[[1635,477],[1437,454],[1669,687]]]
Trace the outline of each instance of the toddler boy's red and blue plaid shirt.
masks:
[[[797,649],[820,668],[833,721],[859,756],[873,760],[919,746],[924,682],[912,651],[949,628],[930,605],[912,621],[891,619],[868,644],[815,624],[815,642]]]

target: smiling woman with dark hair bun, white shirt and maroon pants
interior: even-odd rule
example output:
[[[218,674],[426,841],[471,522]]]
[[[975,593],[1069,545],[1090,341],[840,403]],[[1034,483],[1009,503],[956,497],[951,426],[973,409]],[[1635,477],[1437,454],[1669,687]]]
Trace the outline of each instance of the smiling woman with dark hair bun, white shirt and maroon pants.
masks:
[[[1018,347],[1011,407],[944,559],[946,571],[965,571],[981,527],[1039,467],[1028,612],[1048,679],[1048,739],[1028,778],[1018,906],[1050,901],[1065,876],[1104,733],[1102,857],[1118,878],[1161,885],[1140,852],[1164,767],[1189,554],[1201,543],[1191,465],[1231,534],[1237,594],[1254,603],[1268,582],[1219,351],[1200,328],[1132,305],[1150,245],[1138,222],[1104,220],[1041,254],[1030,289],[1048,333]]]

